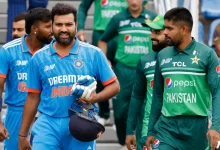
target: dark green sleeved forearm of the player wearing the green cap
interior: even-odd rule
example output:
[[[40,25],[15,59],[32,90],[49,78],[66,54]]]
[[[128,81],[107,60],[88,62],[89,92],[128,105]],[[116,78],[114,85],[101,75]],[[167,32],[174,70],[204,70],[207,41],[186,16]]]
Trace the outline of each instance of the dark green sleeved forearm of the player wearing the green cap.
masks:
[[[127,135],[134,135],[136,124],[137,124],[137,116],[140,113],[141,107],[143,106],[143,99],[137,99],[134,96],[131,97],[130,106],[128,110],[128,119],[127,119]]]

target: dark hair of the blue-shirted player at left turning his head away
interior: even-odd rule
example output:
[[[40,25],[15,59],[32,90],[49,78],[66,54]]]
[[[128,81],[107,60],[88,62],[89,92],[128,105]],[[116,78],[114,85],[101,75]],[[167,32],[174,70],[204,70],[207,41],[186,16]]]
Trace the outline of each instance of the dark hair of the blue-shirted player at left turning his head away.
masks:
[[[28,11],[25,19],[25,30],[27,34],[31,32],[31,26],[41,22],[49,22],[51,20],[51,13],[46,8],[34,8]]]

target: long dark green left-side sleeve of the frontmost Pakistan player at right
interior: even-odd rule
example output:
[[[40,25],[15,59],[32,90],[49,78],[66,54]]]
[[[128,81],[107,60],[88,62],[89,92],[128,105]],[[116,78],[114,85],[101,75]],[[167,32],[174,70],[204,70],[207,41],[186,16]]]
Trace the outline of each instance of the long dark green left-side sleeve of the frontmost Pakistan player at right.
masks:
[[[161,109],[163,106],[163,91],[164,91],[164,79],[160,72],[160,61],[158,58],[154,73],[153,99],[152,99],[147,136],[154,136],[154,131],[153,131],[154,125],[156,124],[157,120],[161,115]]]

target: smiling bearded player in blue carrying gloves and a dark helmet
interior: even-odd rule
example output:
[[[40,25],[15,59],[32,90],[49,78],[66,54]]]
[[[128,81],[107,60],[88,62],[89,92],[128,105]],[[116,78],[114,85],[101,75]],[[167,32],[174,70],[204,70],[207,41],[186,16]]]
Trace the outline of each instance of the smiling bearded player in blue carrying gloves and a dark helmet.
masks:
[[[105,86],[102,92],[93,92],[81,101],[92,104],[94,111],[96,102],[119,92],[119,83],[102,51],[75,37],[77,10],[73,6],[58,3],[51,16],[55,40],[37,52],[30,62],[28,76],[32,78],[27,81],[28,96],[19,132],[19,148],[31,149],[26,135],[38,109],[41,115],[32,128],[33,150],[95,150],[95,141],[79,141],[68,129],[68,109],[73,102],[79,101],[71,94],[72,86],[86,75],[102,82]],[[78,108],[76,111],[80,110]]]

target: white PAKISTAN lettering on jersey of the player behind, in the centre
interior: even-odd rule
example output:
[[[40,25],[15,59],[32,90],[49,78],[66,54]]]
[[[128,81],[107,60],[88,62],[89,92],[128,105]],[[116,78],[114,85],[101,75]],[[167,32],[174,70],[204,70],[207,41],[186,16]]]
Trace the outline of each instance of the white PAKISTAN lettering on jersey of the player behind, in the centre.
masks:
[[[147,54],[148,47],[145,46],[125,46],[126,54]]]

